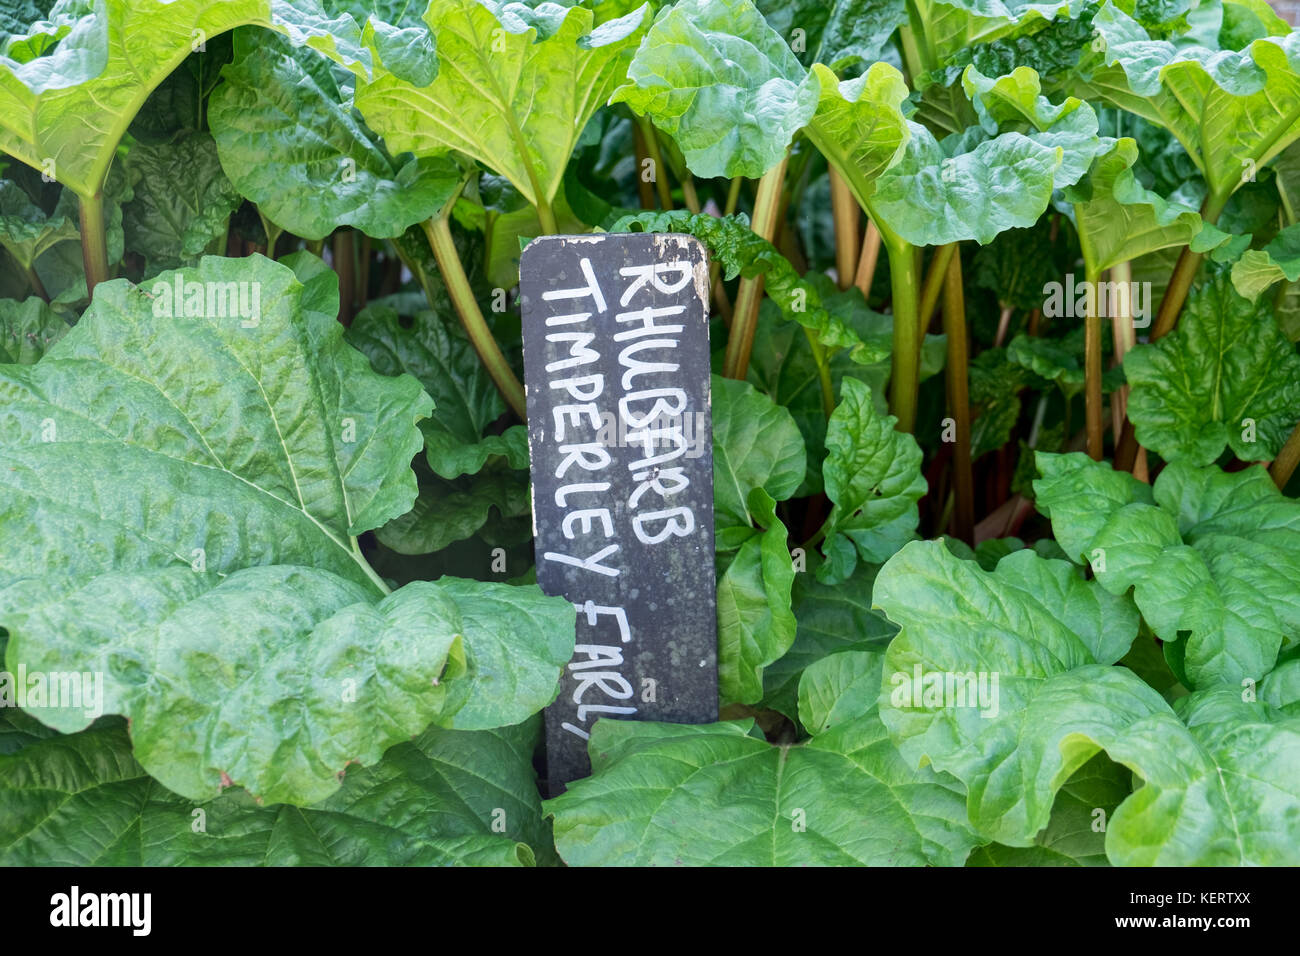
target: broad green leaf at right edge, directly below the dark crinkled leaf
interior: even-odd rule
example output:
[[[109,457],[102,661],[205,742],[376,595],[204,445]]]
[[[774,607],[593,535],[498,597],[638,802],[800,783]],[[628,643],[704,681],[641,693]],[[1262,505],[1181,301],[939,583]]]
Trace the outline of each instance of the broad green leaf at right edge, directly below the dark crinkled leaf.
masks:
[[[1300,637],[1300,505],[1260,468],[1167,466],[1153,488],[1082,453],[1037,455],[1040,510],[1156,635],[1186,641],[1196,687],[1258,680]]]

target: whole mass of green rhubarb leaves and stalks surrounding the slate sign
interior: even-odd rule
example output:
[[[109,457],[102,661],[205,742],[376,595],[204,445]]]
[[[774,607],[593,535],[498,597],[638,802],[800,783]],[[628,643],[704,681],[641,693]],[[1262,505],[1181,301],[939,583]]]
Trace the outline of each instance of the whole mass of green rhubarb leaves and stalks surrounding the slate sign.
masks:
[[[0,5],[0,862],[1300,864],[1297,140],[1254,0]],[[722,719],[543,800],[593,232],[710,252]]]

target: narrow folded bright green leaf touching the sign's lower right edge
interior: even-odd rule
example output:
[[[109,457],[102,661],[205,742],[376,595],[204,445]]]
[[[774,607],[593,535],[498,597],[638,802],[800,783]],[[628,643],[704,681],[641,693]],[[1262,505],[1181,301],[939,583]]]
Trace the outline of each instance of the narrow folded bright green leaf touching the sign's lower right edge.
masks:
[[[724,705],[762,700],[763,669],[794,643],[794,567],[785,525],[762,488],[750,492],[748,503],[762,529],[753,531],[725,566],[719,559],[718,688]]]

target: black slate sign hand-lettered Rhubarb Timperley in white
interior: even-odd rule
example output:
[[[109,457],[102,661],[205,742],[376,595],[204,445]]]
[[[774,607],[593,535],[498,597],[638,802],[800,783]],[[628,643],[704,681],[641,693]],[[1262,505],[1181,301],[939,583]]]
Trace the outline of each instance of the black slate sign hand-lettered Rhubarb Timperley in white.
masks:
[[[520,259],[537,583],[578,611],[552,795],[590,773],[598,718],[718,719],[707,290],[689,235],[549,235]]]

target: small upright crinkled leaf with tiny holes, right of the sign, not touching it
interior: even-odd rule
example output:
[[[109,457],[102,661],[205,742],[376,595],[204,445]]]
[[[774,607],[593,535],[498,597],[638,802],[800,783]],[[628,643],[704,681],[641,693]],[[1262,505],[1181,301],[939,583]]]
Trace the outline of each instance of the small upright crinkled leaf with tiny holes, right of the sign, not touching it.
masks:
[[[832,507],[826,520],[829,561],[818,575],[828,584],[848,578],[859,557],[881,563],[916,535],[916,502],[926,493],[922,454],[916,440],[896,424],[892,415],[876,411],[867,385],[857,378],[840,382],[822,467]]]

